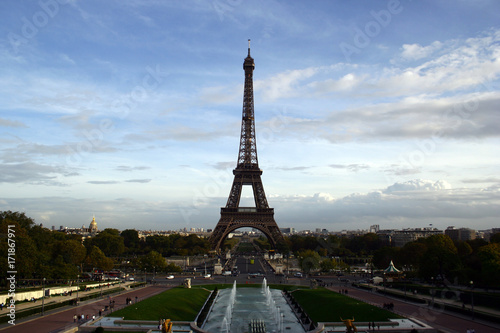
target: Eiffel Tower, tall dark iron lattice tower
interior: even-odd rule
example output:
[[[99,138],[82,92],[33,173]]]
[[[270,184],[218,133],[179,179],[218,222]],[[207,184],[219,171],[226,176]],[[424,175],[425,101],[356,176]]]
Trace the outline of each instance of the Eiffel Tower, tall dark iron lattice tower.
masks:
[[[220,220],[212,235],[210,244],[216,251],[222,246],[224,239],[236,229],[251,227],[260,230],[269,240],[273,248],[283,239],[276,221],[274,208],[269,208],[264,186],[260,176],[257,160],[257,144],[255,142],[255,120],[253,110],[253,70],[255,63],[250,56],[250,39],[248,40],[248,56],[243,62],[245,70],[245,88],[243,93],[243,119],[241,121],[240,150],[238,163],[233,170],[234,181],[229,192],[226,207],[221,208]],[[241,191],[244,185],[253,189],[255,207],[240,207]]]

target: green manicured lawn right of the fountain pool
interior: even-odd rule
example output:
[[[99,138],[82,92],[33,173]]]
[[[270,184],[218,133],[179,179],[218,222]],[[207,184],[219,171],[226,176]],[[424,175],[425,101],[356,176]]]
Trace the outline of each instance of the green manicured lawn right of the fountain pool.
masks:
[[[342,319],[360,321],[387,321],[401,318],[392,312],[327,290],[302,289],[292,293],[314,322],[336,322]]]

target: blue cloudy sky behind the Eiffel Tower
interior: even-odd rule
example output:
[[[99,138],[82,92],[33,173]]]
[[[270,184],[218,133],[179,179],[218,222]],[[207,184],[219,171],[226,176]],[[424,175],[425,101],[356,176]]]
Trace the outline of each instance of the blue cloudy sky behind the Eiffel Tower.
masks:
[[[499,226],[495,0],[1,1],[0,210],[214,228],[249,38],[280,227]]]

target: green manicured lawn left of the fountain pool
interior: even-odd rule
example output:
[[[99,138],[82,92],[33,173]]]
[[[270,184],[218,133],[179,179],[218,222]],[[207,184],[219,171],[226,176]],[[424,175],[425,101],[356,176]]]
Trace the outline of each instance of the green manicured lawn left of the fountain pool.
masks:
[[[210,295],[207,290],[173,288],[137,304],[111,313],[110,317],[126,320],[171,319],[193,321]]]

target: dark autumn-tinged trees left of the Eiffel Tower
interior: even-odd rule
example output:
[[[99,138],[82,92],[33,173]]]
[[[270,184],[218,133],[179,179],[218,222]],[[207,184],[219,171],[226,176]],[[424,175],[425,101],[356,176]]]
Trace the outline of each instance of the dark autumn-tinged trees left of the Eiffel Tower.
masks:
[[[75,279],[92,270],[108,271],[122,266],[130,269],[157,272],[178,271],[167,265],[164,257],[170,255],[196,255],[208,252],[205,239],[190,236],[150,236],[139,239],[136,230],[105,229],[82,241],[81,235],[51,231],[35,224],[24,213],[0,212],[0,271],[7,272],[9,249],[7,235],[15,243],[15,270],[18,280]],[[1,279],[0,284],[6,285]]]

